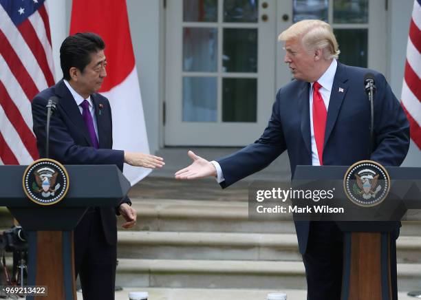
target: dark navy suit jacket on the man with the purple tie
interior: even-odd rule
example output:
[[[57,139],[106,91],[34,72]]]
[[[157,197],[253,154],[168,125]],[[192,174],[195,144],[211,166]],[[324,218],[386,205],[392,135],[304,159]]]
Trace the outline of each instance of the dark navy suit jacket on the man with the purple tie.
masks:
[[[45,106],[52,96],[58,97],[58,105],[50,120],[50,158],[62,164],[116,164],[122,171],[124,151],[112,150],[111,107],[107,98],[92,94],[98,128],[99,149],[92,146],[89,131],[80,109],[63,80],[43,90],[32,100],[32,118],[39,154],[45,157]],[[98,107],[102,105],[101,114]],[[128,198],[124,200],[129,203]],[[109,244],[117,242],[116,210],[100,208],[105,239]]]

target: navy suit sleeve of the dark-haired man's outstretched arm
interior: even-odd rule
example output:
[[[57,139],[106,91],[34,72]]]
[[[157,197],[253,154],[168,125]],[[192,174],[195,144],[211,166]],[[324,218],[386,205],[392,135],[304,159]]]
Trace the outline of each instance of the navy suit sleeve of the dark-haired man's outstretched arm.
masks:
[[[47,100],[36,96],[32,100],[32,119],[36,144],[41,157],[45,157],[45,125]],[[76,144],[70,136],[67,127],[61,118],[58,108],[50,119],[50,157],[63,164],[116,164],[122,171],[124,151],[114,149],[95,149]]]

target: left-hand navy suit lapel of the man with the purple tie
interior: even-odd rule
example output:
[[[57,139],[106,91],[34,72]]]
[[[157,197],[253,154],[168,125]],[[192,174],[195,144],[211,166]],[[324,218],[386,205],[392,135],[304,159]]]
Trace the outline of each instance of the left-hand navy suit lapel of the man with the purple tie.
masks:
[[[70,93],[69,89],[67,89],[63,79],[59,81],[56,85],[56,94],[57,96],[61,97],[59,105],[65,111],[65,114],[69,116],[70,120],[76,125],[76,127],[80,128],[82,131],[83,136],[85,136],[85,140],[89,146],[93,146],[91,142],[91,137],[89,136],[89,131],[83,120],[82,114],[80,114],[80,109],[78,105],[76,105],[76,101],[74,100],[72,93]]]

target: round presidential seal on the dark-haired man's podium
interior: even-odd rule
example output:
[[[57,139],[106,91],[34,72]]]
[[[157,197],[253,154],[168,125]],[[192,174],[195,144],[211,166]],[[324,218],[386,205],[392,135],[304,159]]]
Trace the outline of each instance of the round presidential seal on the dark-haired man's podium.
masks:
[[[69,175],[63,164],[43,158],[32,162],[23,173],[23,191],[40,205],[60,202],[69,189]]]

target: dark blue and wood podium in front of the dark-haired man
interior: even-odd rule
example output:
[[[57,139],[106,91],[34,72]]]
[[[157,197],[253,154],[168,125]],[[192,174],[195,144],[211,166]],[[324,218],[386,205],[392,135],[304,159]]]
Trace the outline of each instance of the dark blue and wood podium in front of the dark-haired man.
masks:
[[[28,286],[47,286],[47,297],[76,300],[73,229],[89,206],[117,207],[130,183],[116,165],[67,165],[69,190],[61,202],[41,206],[22,187],[27,166],[1,166],[0,205],[28,233]]]

